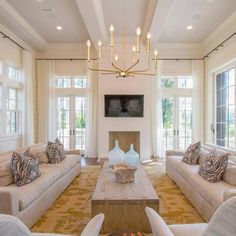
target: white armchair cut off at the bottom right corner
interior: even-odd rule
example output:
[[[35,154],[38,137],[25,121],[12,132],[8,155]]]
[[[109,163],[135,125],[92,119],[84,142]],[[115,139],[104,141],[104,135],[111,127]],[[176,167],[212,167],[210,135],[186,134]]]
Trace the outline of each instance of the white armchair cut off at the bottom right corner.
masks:
[[[145,208],[153,236],[235,236],[236,197],[224,202],[208,224],[167,225],[152,208]]]

